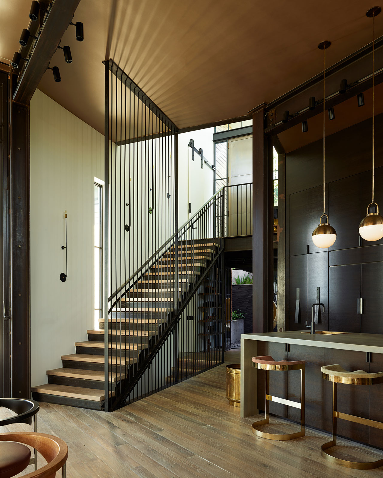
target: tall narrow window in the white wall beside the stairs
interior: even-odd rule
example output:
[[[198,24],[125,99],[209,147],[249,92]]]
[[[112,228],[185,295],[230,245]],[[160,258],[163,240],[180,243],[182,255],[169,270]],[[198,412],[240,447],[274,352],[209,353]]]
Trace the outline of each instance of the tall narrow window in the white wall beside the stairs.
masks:
[[[102,185],[94,183],[94,326],[102,317]]]

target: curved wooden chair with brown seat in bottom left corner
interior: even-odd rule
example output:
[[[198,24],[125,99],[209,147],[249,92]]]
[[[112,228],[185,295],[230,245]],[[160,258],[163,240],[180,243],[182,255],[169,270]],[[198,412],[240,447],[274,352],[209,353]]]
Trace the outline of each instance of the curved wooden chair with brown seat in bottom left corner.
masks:
[[[23,470],[18,470],[13,474],[9,474],[11,471],[6,471],[5,466],[10,469],[16,470],[17,465],[17,451],[13,454],[13,460],[15,466],[12,467],[12,463],[9,462],[9,455],[1,452],[2,447],[5,444],[1,442],[17,442],[16,445],[24,444],[35,448],[41,455],[44,456],[47,464],[38,470],[35,470],[23,478],[55,478],[56,471],[61,468],[61,476],[66,477],[66,462],[68,458],[68,446],[67,444],[53,435],[46,435],[45,433],[34,432],[20,432],[20,433],[0,433],[0,476],[1,478],[11,478],[17,475]],[[7,445],[9,447],[9,444]],[[8,448],[9,449],[9,448]],[[26,463],[26,456],[23,454],[22,448],[19,447],[21,452],[20,459]],[[29,454],[30,456],[30,454]],[[23,468],[25,469],[29,463]]]

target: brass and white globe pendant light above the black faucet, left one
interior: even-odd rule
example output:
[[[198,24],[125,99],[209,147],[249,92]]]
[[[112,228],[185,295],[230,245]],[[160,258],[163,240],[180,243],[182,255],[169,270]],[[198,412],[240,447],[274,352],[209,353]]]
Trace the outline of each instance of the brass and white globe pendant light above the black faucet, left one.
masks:
[[[328,216],[325,208],[325,118],[326,118],[326,96],[325,96],[325,71],[326,71],[326,49],[331,45],[331,42],[325,41],[319,43],[319,50],[323,50],[323,214],[320,217],[320,224],[314,229],[312,239],[316,247],[326,249],[334,244],[337,239],[335,229],[330,226]]]

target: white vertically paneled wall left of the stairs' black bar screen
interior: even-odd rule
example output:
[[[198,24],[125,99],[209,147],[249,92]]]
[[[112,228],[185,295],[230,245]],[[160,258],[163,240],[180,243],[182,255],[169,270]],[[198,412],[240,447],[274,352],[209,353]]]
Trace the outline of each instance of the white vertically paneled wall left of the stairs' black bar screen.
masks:
[[[57,86],[59,87],[59,86]],[[94,177],[104,176],[104,137],[36,90],[31,100],[32,386],[62,366],[94,326]],[[65,219],[68,212],[68,278]]]

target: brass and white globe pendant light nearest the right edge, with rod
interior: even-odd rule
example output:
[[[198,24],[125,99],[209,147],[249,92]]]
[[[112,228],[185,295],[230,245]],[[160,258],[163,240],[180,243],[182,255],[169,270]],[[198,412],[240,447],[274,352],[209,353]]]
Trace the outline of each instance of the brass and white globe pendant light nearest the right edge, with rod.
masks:
[[[379,214],[379,206],[374,201],[374,128],[375,128],[375,17],[381,12],[380,7],[372,7],[366,15],[372,18],[372,202],[367,206],[367,215],[360,222],[359,234],[368,241],[383,238],[383,217]]]

